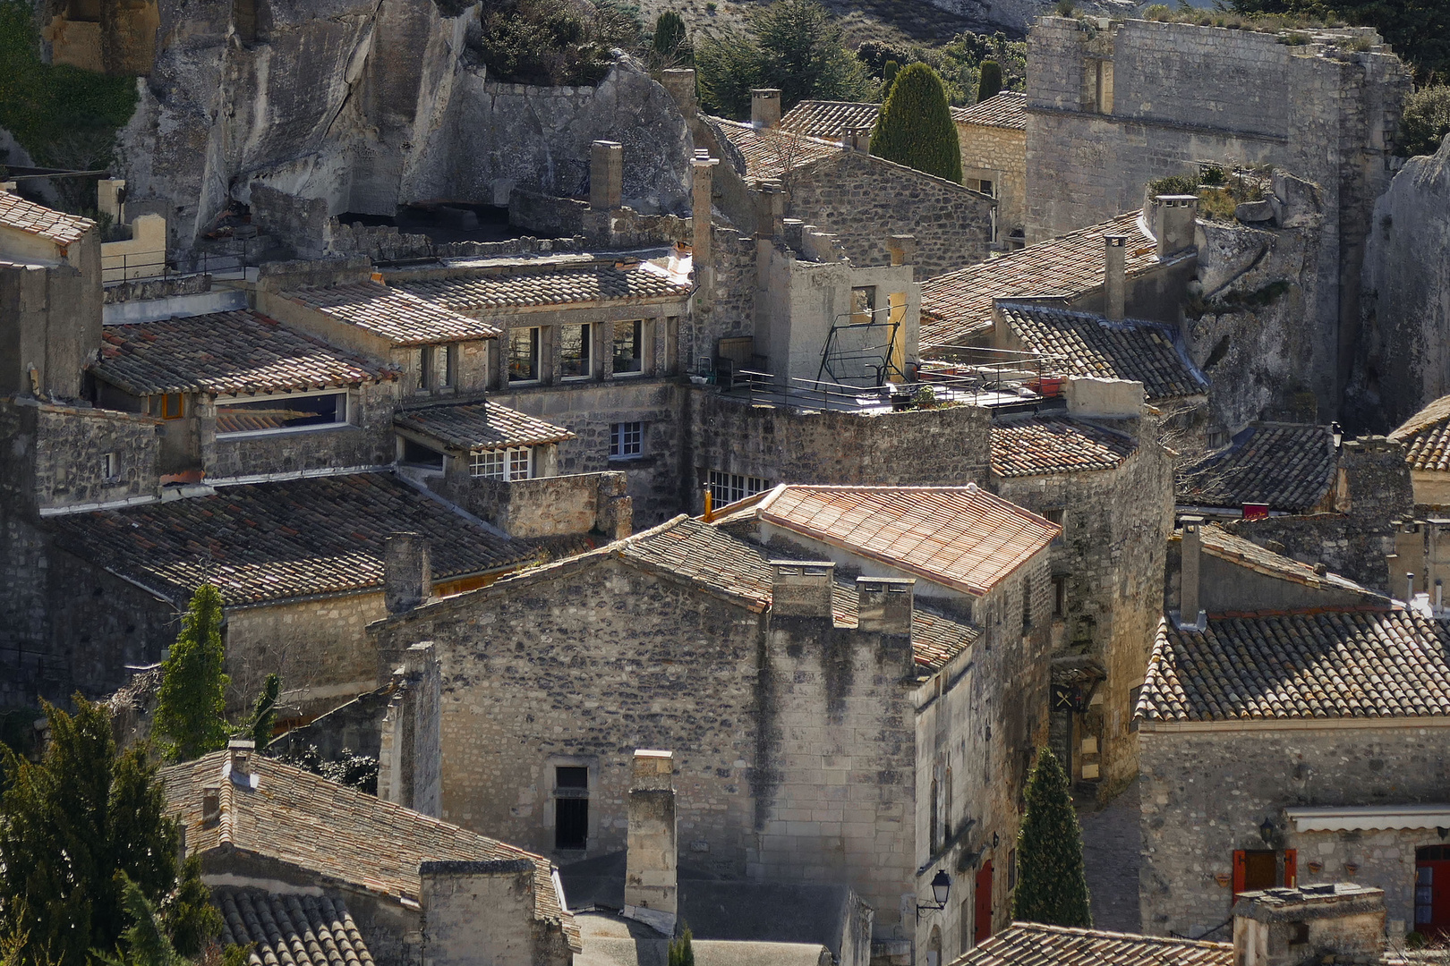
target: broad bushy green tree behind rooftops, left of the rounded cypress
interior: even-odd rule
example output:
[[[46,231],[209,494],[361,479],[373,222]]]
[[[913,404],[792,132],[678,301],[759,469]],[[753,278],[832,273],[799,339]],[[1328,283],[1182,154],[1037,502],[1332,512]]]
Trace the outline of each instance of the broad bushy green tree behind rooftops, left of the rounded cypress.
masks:
[[[858,101],[874,84],[841,43],[841,29],[815,0],[776,0],[751,13],[747,30],[722,30],[695,43],[706,110],[750,116],[750,91],[780,90],[782,110],[802,100]]]

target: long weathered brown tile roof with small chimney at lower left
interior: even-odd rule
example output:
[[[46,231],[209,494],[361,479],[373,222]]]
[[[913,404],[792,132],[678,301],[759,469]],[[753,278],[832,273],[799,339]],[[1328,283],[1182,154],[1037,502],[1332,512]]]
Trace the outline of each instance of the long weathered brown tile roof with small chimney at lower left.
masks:
[[[423,862],[534,863],[534,917],[564,928],[579,950],[579,927],[554,889],[550,860],[329,782],[320,775],[251,755],[255,788],[222,779],[228,752],[161,770],[167,811],[186,827],[188,852],[232,847],[322,873],[374,894],[418,901]],[[219,821],[202,823],[202,795],[220,786]]]

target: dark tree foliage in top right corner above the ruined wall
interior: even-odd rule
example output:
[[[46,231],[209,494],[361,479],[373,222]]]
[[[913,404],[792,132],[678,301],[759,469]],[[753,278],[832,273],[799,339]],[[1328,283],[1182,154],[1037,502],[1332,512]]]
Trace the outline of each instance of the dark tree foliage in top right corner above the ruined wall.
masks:
[[[1276,13],[1372,26],[1430,84],[1450,72],[1450,4],[1444,0],[1230,0],[1238,13]]]

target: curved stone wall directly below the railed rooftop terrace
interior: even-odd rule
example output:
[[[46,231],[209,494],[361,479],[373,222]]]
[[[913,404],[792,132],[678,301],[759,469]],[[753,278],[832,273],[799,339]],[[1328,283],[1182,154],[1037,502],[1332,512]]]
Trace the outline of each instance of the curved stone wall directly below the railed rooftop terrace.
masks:
[[[695,485],[684,505],[699,511],[710,469],[771,484],[985,484],[989,427],[987,411],[969,406],[866,416],[750,406],[697,388],[690,392],[693,465],[686,471]]]

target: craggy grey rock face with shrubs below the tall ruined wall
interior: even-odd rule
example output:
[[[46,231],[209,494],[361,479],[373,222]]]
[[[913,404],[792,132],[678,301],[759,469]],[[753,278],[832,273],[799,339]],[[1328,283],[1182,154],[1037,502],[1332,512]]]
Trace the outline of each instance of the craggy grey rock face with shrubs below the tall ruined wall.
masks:
[[[1279,172],[1273,216],[1199,222],[1198,278],[1186,310],[1193,362],[1212,381],[1212,419],[1230,433],[1251,420],[1315,421],[1309,327],[1324,226],[1320,191]]]

